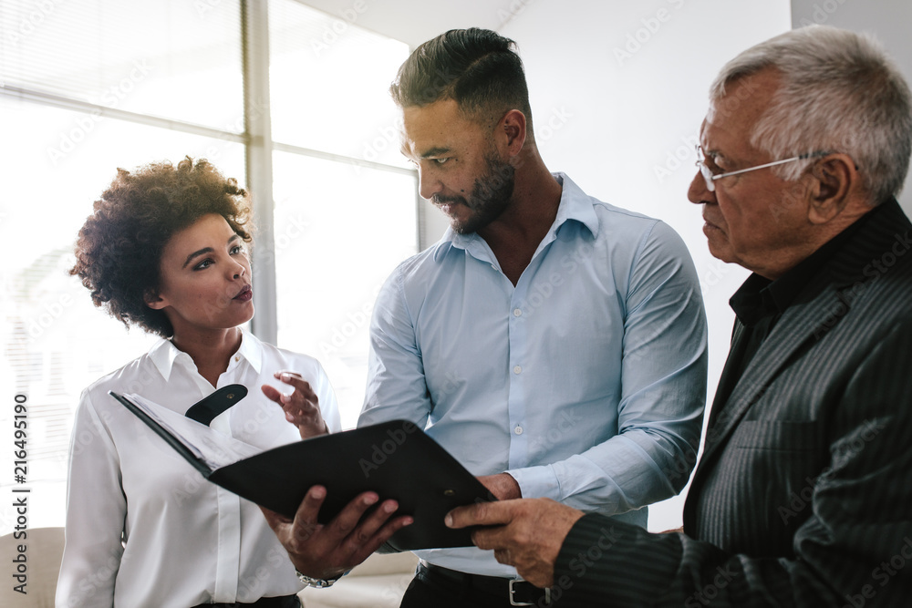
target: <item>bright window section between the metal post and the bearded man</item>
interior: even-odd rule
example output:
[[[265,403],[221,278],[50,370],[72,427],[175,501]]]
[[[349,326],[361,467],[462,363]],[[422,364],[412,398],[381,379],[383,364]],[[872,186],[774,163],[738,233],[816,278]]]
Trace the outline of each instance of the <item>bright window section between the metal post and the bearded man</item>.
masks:
[[[269,23],[278,343],[323,363],[353,427],[374,297],[418,248],[387,91],[409,49],[294,0],[272,0]]]

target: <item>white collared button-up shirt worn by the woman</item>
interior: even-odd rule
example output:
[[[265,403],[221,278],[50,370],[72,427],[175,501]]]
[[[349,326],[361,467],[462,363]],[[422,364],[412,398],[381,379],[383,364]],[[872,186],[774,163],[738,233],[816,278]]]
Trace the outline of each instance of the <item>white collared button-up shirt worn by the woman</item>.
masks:
[[[273,374],[298,372],[310,382],[331,431],[341,428],[336,396],[313,357],[244,333],[218,386],[248,394],[211,427],[260,448],[299,440],[297,428],[260,386]],[[183,414],[216,387],[168,340],[89,386],[70,445],[67,544],[57,606],[155,606],[251,603],[297,593],[295,567],[263,514],[206,481],[109,390],[137,393]]]

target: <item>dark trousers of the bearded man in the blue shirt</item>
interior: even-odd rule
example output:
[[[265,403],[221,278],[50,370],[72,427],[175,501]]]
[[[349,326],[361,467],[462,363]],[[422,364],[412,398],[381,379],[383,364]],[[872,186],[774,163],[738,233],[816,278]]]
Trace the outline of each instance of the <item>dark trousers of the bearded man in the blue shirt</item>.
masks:
[[[492,584],[494,577],[464,574],[461,580],[454,576],[442,576],[441,570],[422,563],[415,578],[402,597],[399,608],[509,608],[510,597],[506,579],[503,591],[500,585]],[[446,571],[455,574],[453,571]],[[528,583],[527,583],[528,584]],[[496,591],[493,591],[492,588]],[[553,604],[544,599],[535,602],[535,608],[548,608]]]

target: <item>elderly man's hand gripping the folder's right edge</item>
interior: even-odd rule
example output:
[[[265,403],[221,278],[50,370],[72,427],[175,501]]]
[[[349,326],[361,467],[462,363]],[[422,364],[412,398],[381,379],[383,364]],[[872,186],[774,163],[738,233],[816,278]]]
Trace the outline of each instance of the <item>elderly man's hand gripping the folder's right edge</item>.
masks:
[[[538,587],[554,584],[554,562],[567,533],[583,511],[549,499],[478,502],[451,510],[451,528],[496,526],[472,532],[472,542],[493,549],[494,558],[516,567],[520,576]]]

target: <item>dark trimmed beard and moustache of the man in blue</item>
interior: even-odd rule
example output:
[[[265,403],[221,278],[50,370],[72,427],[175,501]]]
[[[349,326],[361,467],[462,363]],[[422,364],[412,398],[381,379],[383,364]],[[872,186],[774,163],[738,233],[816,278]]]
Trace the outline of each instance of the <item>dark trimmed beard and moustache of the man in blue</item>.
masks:
[[[459,234],[472,234],[478,232],[489,223],[500,217],[503,210],[510,204],[515,184],[516,168],[509,162],[497,158],[495,154],[485,154],[486,170],[482,177],[475,180],[472,194],[468,199],[462,196],[434,195],[431,201],[434,204],[461,203],[472,211],[466,220],[450,218],[453,232]]]

